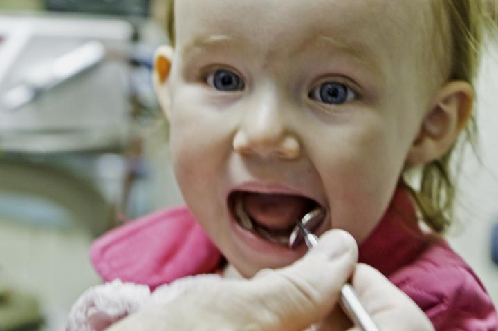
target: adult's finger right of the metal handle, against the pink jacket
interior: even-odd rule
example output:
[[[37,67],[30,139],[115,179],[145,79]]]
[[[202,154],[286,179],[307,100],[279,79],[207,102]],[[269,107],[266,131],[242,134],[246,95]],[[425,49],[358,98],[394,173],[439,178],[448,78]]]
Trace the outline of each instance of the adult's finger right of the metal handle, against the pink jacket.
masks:
[[[373,267],[358,264],[351,283],[380,330],[434,330],[416,303]],[[349,331],[360,331],[360,329],[352,328]]]

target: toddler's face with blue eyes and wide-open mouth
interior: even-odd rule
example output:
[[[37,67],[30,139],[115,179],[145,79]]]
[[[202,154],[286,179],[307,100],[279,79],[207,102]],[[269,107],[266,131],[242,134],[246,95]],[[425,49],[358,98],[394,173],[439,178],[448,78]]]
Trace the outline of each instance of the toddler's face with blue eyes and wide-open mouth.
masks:
[[[317,205],[318,234],[376,226],[430,99],[429,2],[176,1],[174,169],[244,276],[302,256],[255,231],[284,237]]]

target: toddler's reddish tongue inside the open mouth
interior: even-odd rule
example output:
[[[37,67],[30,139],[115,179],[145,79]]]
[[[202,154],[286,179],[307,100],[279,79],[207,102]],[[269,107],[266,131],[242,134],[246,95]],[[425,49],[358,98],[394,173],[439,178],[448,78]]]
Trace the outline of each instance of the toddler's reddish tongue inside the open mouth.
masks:
[[[313,207],[314,202],[302,196],[244,193],[243,207],[258,225],[269,230],[294,227]]]

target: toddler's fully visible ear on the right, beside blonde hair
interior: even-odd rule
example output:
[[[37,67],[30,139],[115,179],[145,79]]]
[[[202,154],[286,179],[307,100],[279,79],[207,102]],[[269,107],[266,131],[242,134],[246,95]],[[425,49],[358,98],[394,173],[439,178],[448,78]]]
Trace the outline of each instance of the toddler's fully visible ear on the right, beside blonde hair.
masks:
[[[425,164],[441,158],[457,141],[472,114],[474,88],[453,81],[441,88],[430,104],[420,132],[409,150],[407,165]]]

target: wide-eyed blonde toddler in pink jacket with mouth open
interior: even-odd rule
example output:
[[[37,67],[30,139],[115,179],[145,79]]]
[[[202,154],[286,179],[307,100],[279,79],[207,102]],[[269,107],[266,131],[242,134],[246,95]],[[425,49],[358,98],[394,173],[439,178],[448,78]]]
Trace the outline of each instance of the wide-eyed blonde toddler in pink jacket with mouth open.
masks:
[[[360,262],[408,294],[436,330],[498,330],[483,285],[439,236],[451,224],[450,155],[474,123],[481,1],[171,6],[172,46],[158,50],[154,79],[187,207],[97,240],[91,258],[105,281],[154,290],[290,265],[306,252],[288,247],[295,220],[319,207],[327,216],[315,234],[348,231]],[[418,171],[413,187],[409,171]],[[75,305],[68,330],[80,328],[77,314],[105,309],[95,299],[103,286]],[[140,307],[112,321],[154,301],[139,290]]]

